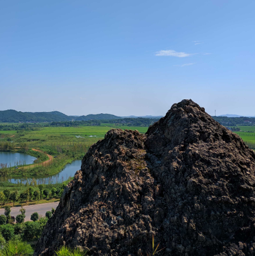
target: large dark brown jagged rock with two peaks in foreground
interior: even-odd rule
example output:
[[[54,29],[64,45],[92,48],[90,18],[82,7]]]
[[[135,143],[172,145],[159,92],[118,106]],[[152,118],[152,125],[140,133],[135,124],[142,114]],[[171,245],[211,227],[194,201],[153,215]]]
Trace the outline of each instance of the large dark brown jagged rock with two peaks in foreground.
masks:
[[[255,153],[192,100],[145,135],[111,129],[88,150],[35,256],[255,255]]]

